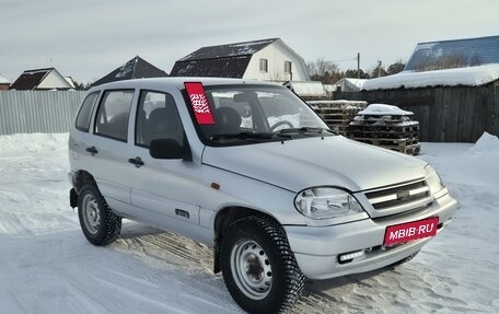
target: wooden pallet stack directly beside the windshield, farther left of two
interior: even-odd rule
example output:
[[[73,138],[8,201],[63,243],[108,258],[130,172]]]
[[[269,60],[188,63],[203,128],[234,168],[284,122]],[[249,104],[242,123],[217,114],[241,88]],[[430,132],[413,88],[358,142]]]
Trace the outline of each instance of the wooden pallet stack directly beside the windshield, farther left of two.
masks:
[[[348,125],[357,113],[365,109],[364,101],[309,101],[306,102],[334,130],[346,136]]]

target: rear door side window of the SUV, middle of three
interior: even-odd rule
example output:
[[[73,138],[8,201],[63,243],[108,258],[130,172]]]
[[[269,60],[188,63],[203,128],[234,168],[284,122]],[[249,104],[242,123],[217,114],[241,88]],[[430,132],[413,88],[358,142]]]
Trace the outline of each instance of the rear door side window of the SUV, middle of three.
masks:
[[[132,97],[134,91],[106,91],[98,106],[95,133],[126,142]]]

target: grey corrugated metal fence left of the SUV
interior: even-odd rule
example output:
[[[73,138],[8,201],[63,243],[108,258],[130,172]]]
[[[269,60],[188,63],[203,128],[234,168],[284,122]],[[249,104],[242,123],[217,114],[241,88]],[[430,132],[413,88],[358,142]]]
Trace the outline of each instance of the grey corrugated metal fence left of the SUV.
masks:
[[[0,91],[0,135],[68,132],[84,91]]]

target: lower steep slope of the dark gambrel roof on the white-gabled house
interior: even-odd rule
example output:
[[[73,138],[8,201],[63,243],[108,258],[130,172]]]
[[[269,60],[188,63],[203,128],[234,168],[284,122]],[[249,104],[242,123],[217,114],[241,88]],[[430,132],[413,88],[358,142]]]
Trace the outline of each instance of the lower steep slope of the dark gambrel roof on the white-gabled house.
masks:
[[[176,61],[172,77],[209,77],[242,79],[252,56],[235,56],[219,59]]]

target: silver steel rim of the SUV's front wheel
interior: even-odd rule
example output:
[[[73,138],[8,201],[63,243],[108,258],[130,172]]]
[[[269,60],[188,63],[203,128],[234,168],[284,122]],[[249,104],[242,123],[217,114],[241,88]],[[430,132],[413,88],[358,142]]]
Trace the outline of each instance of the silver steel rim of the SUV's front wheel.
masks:
[[[252,240],[232,247],[232,276],[237,288],[253,300],[266,298],[272,287],[272,268],[265,251]]]

